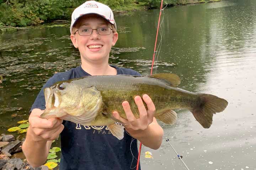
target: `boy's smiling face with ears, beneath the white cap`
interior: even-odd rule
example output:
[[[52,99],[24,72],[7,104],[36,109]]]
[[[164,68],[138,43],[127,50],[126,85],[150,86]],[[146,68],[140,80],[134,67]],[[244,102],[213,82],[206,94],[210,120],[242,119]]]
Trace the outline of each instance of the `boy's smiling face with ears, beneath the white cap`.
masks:
[[[97,15],[88,15],[80,18],[76,25],[78,28],[111,27],[105,19]],[[75,31],[76,31],[75,30]],[[97,30],[93,30],[91,35],[81,36],[78,32],[71,34],[73,45],[79,49],[82,62],[108,62],[111,46],[116,44],[118,39],[117,32],[111,31],[110,35],[99,35]]]

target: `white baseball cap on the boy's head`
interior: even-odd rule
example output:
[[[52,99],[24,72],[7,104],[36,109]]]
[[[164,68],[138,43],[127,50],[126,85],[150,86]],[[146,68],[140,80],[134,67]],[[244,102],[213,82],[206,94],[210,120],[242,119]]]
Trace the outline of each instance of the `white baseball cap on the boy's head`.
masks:
[[[101,4],[96,1],[86,1],[84,4],[75,8],[71,16],[71,25],[70,25],[70,33],[72,34],[72,29],[78,18],[87,14],[97,14],[105,18],[108,22],[110,22],[116,28],[116,22],[114,21],[114,15],[110,7],[107,5]]]

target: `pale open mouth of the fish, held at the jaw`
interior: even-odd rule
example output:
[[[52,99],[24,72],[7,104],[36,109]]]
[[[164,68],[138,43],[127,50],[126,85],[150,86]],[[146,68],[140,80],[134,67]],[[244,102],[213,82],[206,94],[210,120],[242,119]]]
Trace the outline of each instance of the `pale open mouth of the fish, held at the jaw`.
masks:
[[[60,99],[58,95],[54,92],[52,87],[46,87],[44,89],[44,98],[46,101],[46,109],[40,115],[40,118],[50,119],[50,118],[59,118],[66,115],[66,113],[59,109]]]

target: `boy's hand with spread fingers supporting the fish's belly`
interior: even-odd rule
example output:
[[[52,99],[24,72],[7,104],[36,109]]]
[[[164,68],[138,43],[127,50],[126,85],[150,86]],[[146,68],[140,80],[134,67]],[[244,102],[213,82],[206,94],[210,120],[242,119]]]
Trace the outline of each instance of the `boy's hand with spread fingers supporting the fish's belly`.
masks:
[[[146,103],[148,110],[146,110],[142,98]],[[148,125],[153,122],[155,105],[148,95],[143,95],[142,98],[140,96],[134,97],[134,101],[137,104],[139,110],[139,119],[134,117],[132,110],[130,109],[130,105],[127,101],[122,103],[127,119],[120,117],[118,112],[113,112],[113,117],[121,120],[125,124],[125,128],[129,133],[133,131],[145,130],[148,128]]]

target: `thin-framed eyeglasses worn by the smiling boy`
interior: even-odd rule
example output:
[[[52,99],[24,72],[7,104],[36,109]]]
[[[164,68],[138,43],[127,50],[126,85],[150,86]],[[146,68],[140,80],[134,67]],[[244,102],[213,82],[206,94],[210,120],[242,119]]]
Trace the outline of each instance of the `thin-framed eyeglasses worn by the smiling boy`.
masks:
[[[97,28],[97,29],[78,28],[78,30],[76,30],[75,33],[78,32],[78,34],[81,35],[81,36],[89,36],[89,35],[92,34],[93,30],[97,30],[97,33],[99,35],[109,35],[113,29],[111,29],[110,27],[100,27],[100,28]]]

